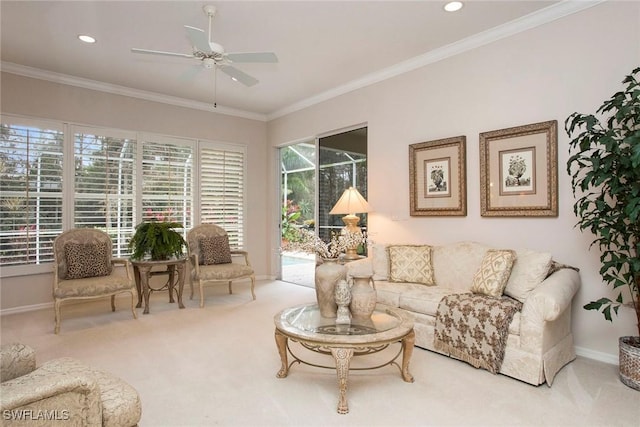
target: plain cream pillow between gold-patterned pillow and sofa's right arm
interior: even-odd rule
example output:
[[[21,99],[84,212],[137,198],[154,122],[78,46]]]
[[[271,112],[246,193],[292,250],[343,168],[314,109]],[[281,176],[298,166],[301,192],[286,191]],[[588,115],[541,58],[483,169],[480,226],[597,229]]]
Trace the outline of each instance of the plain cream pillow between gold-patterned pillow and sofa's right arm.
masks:
[[[518,249],[504,294],[524,303],[529,293],[547,277],[551,253]]]

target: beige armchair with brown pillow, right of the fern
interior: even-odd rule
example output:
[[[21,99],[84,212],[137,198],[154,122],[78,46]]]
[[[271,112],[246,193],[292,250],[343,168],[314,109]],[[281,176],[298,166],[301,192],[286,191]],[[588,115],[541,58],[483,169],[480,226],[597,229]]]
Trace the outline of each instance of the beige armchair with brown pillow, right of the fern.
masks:
[[[187,246],[191,274],[189,285],[193,299],[193,282],[200,287],[200,307],[204,307],[204,283],[227,282],[232,293],[231,282],[239,279],[251,279],[251,296],[256,299],[256,278],[249,262],[249,254],[242,250],[229,248],[227,232],[214,224],[198,225],[187,233]]]

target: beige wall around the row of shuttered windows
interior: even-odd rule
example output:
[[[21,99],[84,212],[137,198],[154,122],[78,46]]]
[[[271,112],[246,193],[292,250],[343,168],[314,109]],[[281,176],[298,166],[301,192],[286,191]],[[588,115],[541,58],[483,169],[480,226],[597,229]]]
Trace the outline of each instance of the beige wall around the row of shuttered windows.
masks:
[[[81,89],[2,73],[1,108],[43,119],[200,138],[247,146],[245,248],[256,275],[269,272],[264,207],[267,205],[266,123],[202,110]],[[51,304],[51,274],[2,278],[2,310]]]

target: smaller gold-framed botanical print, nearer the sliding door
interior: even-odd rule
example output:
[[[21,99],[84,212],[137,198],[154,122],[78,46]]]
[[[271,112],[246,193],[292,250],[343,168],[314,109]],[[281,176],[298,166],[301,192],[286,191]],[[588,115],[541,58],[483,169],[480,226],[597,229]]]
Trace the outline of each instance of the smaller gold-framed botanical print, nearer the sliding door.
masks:
[[[466,216],[466,136],[409,145],[411,216]]]

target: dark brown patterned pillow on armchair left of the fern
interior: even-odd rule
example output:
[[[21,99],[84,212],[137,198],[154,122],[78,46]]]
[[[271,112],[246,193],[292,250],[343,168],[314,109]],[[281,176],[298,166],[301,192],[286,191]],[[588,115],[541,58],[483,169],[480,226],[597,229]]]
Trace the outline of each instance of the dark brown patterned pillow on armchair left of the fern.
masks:
[[[67,262],[65,279],[108,276],[113,270],[109,255],[107,242],[65,243],[64,257]]]

